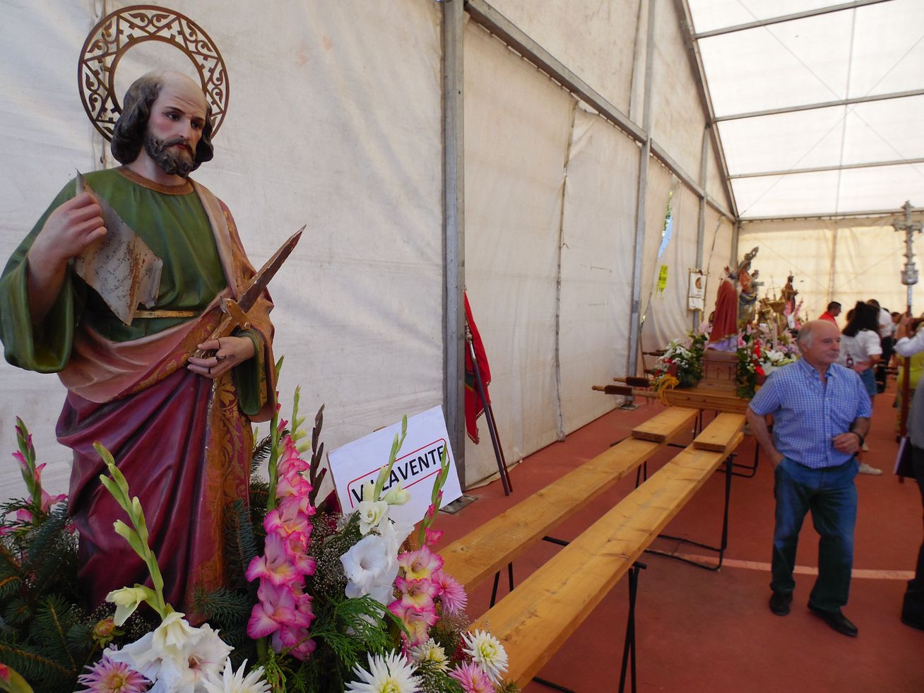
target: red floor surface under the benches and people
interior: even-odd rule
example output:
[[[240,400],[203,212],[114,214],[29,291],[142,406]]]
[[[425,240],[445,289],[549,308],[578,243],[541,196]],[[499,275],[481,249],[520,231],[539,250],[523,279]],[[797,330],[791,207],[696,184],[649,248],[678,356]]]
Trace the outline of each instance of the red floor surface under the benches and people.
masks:
[[[606,396],[606,395],[601,395]],[[921,502],[914,483],[898,483],[891,473],[894,442],[893,395],[879,395],[864,459],[885,470],[879,477],[859,475],[859,509],[855,541],[855,577],[844,612],[859,628],[858,638],[846,638],[826,626],[806,608],[811,575],[796,575],[792,613],[773,615],[770,597],[773,527],[772,468],[764,456],[752,479],[732,483],[728,548],[725,565],[710,572],[663,556],[646,553],[637,602],[638,691],[924,691],[924,631],[899,620],[906,579],[914,567],[921,541]],[[443,545],[529,493],[541,489],[567,470],[596,456],[628,434],[639,421],[660,410],[643,404],[636,411],[615,410],[527,457],[511,472],[514,493],[508,498],[500,481],[470,491],[478,500],[455,516],[441,514]],[[501,414],[498,413],[500,416]],[[482,422],[482,428],[484,424]],[[482,436],[490,444],[487,431]],[[685,441],[686,442],[686,441]],[[653,473],[675,454],[668,449],[649,462]],[[738,448],[737,462],[753,460],[750,436]],[[586,529],[630,492],[635,475],[571,517],[555,532],[570,539]],[[717,545],[721,538],[724,475],[716,472],[683,508],[667,532]],[[797,564],[817,563],[818,535],[807,518]],[[704,549],[658,540],[656,547],[711,557]],[[515,577],[521,580],[551,557],[557,547],[539,542],[517,558]],[[579,570],[579,567],[576,566]],[[862,575],[862,573],[861,573]],[[500,595],[506,593],[506,579]],[[469,595],[473,617],[488,609],[491,584]],[[614,691],[618,687],[626,636],[628,581],[616,585],[577,628],[541,676],[579,693]],[[489,624],[490,626],[490,624]],[[631,688],[626,682],[626,690]],[[532,683],[526,693],[552,691]]]

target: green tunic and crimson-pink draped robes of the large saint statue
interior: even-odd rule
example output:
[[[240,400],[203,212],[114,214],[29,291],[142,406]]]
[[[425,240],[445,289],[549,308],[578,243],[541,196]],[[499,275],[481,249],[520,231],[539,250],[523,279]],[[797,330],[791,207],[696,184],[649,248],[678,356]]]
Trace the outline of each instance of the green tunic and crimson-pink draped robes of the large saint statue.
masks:
[[[91,605],[146,578],[112,529],[124,513],[99,483],[103,462],[92,448],[99,441],[140,497],[167,601],[186,610],[197,587],[225,581],[223,518],[231,502],[247,501],[249,419],[269,419],[274,410],[272,303],[264,295],[249,314],[250,330],[237,333],[254,342],[254,359],[214,381],[188,371],[186,359],[219,320],[218,297],[237,298],[253,275],[231,214],[191,181],[164,187],[125,168],[85,179],[164,261],[152,310],[198,317],[135,318],[128,326],[68,268],[52,310],[33,327],[27,253],[48,215],[76,194],[71,182],[0,277],[0,339],[7,361],[57,372],[67,386],[57,436],[74,451],[68,496]]]

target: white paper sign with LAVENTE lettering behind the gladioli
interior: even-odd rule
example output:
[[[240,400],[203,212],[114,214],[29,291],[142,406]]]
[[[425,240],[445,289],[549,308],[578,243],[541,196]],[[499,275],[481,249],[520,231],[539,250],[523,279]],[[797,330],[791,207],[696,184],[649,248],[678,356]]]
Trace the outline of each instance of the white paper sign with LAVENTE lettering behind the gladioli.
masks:
[[[398,421],[328,453],[327,461],[344,513],[356,510],[362,500],[362,485],[378,477],[379,470],[388,463],[395,433],[400,432],[401,422]],[[405,505],[392,505],[389,517],[406,523],[415,523],[423,518],[430,507],[433,482],[440,473],[440,456],[444,447],[449,459],[449,475],[443,487],[441,505],[452,503],[462,495],[443,407],[433,407],[407,419],[407,437],[398,450],[391,477],[385,481],[383,495],[395,484],[401,484],[401,488],[410,493],[410,500]]]

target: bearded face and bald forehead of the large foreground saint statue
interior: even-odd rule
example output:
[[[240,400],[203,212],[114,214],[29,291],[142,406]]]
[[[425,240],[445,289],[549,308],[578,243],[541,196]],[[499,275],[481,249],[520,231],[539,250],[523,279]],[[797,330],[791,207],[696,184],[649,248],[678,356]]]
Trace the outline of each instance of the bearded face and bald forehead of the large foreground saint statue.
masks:
[[[170,176],[189,175],[205,127],[205,96],[191,79],[169,75],[151,105],[144,151]]]

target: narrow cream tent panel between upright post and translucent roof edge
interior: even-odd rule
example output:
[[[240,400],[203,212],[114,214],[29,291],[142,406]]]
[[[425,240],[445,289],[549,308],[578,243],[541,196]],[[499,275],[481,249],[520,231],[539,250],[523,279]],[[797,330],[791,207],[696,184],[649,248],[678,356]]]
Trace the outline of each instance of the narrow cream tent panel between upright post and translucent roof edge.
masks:
[[[699,176],[706,116],[680,33],[675,3],[658,3],[651,93],[651,138],[690,176]]]

